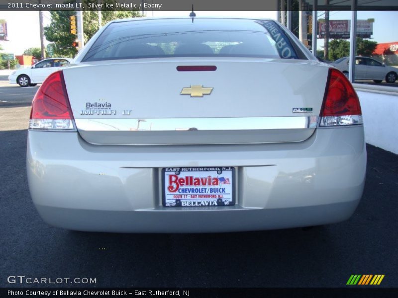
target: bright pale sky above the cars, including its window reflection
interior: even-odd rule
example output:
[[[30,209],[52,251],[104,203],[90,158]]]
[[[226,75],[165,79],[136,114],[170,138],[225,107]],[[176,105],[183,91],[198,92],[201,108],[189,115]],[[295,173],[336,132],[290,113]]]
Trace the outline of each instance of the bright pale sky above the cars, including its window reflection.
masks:
[[[190,11],[147,11],[147,16],[188,16]],[[197,16],[231,16],[276,19],[276,11],[197,11]],[[323,12],[318,12],[323,17]],[[373,40],[379,43],[398,41],[396,23],[398,11],[358,11],[358,19],[374,18]],[[0,41],[6,53],[21,55],[25,49],[40,47],[38,11],[0,11],[0,19],[7,21],[8,40]],[[330,19],[351,19],[350,11],[331,11]],[[44,26],[50,23],[48,11],[44,12]],[[45,44],[48,42],[46,41]],[[318,40],[318,48],[323,45]]]

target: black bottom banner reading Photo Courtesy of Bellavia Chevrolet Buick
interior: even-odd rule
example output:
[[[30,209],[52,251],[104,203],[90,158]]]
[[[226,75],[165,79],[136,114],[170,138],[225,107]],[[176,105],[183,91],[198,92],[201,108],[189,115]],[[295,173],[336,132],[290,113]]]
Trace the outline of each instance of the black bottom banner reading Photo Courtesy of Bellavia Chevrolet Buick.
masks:
[[[347,288],[2,288],[0,297],[397,297],[398,289],[353,286]]]

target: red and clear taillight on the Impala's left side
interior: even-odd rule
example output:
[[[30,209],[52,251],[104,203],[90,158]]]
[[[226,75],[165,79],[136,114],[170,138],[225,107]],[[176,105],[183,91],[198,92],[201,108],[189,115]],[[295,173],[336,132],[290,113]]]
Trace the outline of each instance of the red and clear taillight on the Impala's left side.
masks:
[[[32,102],[29,129],[74,129],[62,71],[50,74],[37,90]]]

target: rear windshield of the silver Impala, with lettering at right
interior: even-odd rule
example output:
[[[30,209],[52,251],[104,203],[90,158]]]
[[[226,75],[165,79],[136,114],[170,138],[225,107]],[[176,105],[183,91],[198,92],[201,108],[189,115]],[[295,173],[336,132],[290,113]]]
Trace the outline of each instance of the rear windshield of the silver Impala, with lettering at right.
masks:
[[[188,18],[111,23],[83,62],[220,56],[298,59],[274,21]]]

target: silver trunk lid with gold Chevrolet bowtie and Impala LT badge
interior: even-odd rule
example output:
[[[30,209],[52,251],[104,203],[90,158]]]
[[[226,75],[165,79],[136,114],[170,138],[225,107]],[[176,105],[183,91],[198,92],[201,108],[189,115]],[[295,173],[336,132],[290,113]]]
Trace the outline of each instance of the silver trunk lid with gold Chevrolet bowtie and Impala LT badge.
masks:
[[[303,141],[316,128],[327,75],[313,61],[253,58],[120,60],[64,70],[79,134],[100,145]]]

